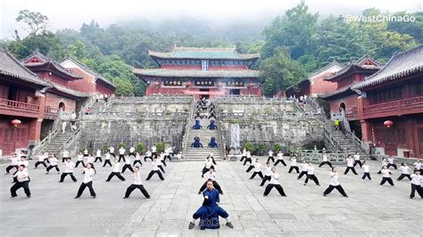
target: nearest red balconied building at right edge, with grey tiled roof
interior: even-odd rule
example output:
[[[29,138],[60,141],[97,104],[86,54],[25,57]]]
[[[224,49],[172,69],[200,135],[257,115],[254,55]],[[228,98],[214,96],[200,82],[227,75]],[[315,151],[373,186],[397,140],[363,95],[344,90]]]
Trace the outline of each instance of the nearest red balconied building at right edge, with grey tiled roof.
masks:
[[[351,89],[360,94],[356,117],[365,143],[380,154],[423,158],[423,45],[395,54]]]

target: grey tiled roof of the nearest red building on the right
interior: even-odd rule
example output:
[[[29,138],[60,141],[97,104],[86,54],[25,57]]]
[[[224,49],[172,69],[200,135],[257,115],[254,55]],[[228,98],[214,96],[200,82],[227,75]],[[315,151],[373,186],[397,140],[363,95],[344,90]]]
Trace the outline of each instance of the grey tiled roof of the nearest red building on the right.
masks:
[[[383,84],[386,81],[403,78],[422,71],[423,45],[419,45],[411,50],[395,54],[382,69],[370,77],[365,78],[361,83],[352,86],[352,89]]]

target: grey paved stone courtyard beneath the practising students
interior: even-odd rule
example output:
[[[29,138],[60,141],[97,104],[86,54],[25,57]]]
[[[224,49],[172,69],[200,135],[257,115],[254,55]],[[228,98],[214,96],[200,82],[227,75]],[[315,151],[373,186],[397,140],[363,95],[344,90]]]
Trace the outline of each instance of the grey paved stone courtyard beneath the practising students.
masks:
[[[336,190],[326,198],[322,196],[329,182],[328,167],[316,168],[321,186],[313,182],[303,186],[303,180],[287,174],[288,168],[279,164],[280,183],[287,197],[280,197],[276,190],[263,197],[260,177],[249,180],[253,171],[246,174],[247,166],[243,167],[239,161],[218,161],[218,182],[224,192],[220,206],[228,211],[235,228],[229,229],[224,226],[225,220],[221,220],[220,230],[205,231],[198,225],[193,230],[187,229],[192,214],[203,201],[197,194],[203,184],[203,162],[168,162],[165,181],[153,176],[144,182],[152,196],[150,200],[139,191],[123,200],[131,184],[129,171],[123,175],[126,182],[114,177],[112,182],[105,183],[111,168],[101,168],[99,163],[95,165],[98,174],[94,179],[97,199],[91,199],[86,190],[81,199],[74,200],[83,177],[80,172],[77,183],[72,183],[68,176],[59,184],[59,175],[53,171],[45,175],[44,168],[33,169],[33,164],[30,162],[29,168],[31,199],[25,198],[22,189],[17,199],[9,199],[12,179],[0,177],[2,236],[419,236],[423,226],[423,201],[419,196],[409,199],[410,182],[396,181],[400,171],[394,170],[395,186],[379,186],[381,176],[376,174],[379,162],[370,162],[371,182],[361,181],[360,168],[360,176],[340,175],[340,182],[350,197],[346,199]],[[144,162],[143,177],[150,168],[150,162]],[[339,172],[343,173],[344,167]]]

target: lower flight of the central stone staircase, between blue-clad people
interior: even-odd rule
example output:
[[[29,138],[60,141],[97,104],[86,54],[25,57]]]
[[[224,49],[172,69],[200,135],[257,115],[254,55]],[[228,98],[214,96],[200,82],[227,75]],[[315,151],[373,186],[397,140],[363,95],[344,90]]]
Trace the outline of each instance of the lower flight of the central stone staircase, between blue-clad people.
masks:
[[[186,160],[205,160],[205,158],[209,155],[210,152],[213,152],[214,159],[221,160],[223,159],[222,151],[221,151],[221,139],[220,139],[220,130],[219,129],[207,129],[207,126],[210,124],[209,119],[201,119],[201,129],[192,129],[194,126],[195,120],[192,119],[191,129],[187,134],[187,148],[185,153]],[[216,124],[219,127],[219,121],[216,119]],[[200,142],[203,143],[203,148],[194,148],[191,147],[191,143],[194,143],[194,137],[200,137]],[[211,137],[214,136],[216,138],[216,143],[218,143],[219,147],[217,148],[210,148],[207,147],[207,144],[210,143]]]

